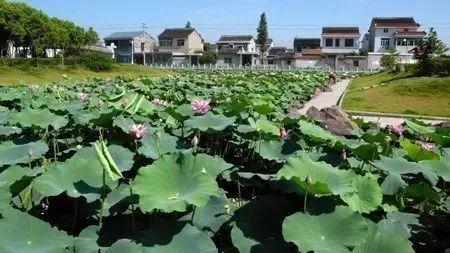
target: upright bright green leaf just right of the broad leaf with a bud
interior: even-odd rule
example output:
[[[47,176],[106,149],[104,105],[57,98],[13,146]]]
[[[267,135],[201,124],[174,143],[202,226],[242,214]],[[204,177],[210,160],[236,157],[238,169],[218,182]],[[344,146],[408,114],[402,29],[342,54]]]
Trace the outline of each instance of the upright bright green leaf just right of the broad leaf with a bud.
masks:
[[[372,174],[355,176],[352,193],[341,194],[341,199],[353,210],[360,213],[375,211],[383,201],[383,193],[377,178]]]

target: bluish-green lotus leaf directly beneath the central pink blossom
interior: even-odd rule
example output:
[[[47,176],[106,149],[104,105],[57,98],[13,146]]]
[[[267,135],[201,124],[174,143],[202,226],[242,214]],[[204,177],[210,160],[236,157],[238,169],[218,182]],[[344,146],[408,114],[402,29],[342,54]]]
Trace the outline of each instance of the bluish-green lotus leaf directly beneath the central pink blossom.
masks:
[[[200,131],[206,132],[209,130],[222,131],[228,126],[234,124],[236,117],[228,118],[222,114],[214,115],[208,112],[202,116],[191,117],[185,121],[185,127],[199,129]]]

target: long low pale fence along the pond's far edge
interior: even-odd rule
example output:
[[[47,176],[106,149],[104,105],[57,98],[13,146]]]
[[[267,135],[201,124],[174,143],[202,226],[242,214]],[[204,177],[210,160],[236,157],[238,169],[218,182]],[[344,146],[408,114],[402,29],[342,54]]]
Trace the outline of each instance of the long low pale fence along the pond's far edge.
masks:
[[[333,69],[330,67],[296,67],[296,66],[279,66],[279,65],[255,65],[255,66],[240,66],[240,65],[189,65],[189,64],[150,64],[150,67],[159,69],[180,69],[180,70],[266,70],[266,71],[335,71],[335,72],[350,72],[350,73],[375,73],[380,71],[375,69],[362,69],[358,67],[353,68],[339,68]]]

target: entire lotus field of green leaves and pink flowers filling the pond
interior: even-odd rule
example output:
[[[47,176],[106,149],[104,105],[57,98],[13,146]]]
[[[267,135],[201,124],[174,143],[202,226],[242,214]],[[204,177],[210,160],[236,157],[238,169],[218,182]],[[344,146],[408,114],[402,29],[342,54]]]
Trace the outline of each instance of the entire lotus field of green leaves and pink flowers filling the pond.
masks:
[[[329,73],[0,88],[0,252],[443,252],[450,128],[288,113]]]

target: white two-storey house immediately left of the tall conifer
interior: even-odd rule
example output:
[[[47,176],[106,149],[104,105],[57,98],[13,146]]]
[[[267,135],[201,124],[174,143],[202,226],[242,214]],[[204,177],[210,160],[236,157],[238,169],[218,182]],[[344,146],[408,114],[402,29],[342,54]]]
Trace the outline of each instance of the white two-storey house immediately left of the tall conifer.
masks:
[[[217,64],[252,66],[257,64],[259,52],[252,35],[223,35],[217,45]]]

